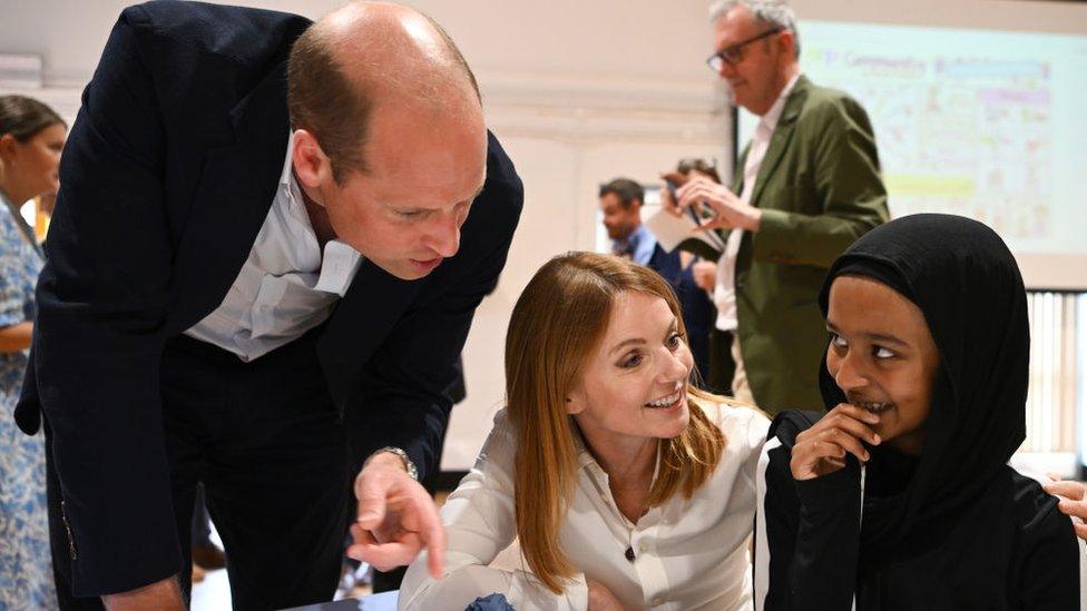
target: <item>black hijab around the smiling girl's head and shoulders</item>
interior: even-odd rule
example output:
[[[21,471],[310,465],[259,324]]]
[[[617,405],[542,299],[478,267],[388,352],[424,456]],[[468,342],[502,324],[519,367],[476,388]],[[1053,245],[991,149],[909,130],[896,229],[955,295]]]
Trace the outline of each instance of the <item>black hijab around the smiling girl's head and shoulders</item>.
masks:
[[[865,234],[826,275],[820,294],[824,317],[831,285],[842,275],[872,278],[913,302],[940,353],[920,457],[870,449],[868,485],[894,492],[865,495],[861,554],[890,558],[939,540],[1022,443],[1030,353],[1026,292],[1000,236],[952,215],[907,216]],[[828,410],[845,402],[825,358],[820,390]],[[879,476],[902,481],[871,481]]]

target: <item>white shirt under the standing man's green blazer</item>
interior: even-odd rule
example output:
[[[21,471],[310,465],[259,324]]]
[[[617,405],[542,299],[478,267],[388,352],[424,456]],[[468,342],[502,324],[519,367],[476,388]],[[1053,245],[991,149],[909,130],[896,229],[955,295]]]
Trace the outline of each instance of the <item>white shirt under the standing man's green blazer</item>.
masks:
[[[758,170],[763,166],[763,158],[766,157],[766,149],[770,148],[770,138],[774,135],[777,121],[785,110],[785,100],[792,92],[793,86],[800,72],[789,79],[785,88],[782,89],[774,106],[758,120],[755,127],[755,135],[751,139],[751,148],[747,150],[747,160],[744,162],[744,189],[740,194],[740,199],[745,204],[751,201],[751,194],[755,190],[755,180],[758,178]],[[725,252],[717,260],[717,282],[714,285],[714,305],[717,306],[716,327],[721,331],[734,332],[738,326],[736,319],[736,257],[740,255],[740,242],[744,237],[743,229],[733,229],[728,233],[725,240]]]

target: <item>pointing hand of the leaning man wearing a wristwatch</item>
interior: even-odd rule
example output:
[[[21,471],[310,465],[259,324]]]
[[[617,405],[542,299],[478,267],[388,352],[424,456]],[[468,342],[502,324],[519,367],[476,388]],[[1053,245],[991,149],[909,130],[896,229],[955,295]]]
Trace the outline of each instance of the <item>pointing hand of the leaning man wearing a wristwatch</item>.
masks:
[[[410,564],[423,548],[434,579],[445,569],[445,530],[434,500],[404,471],[400,456],[382,452],[370,459],[355,477],[358,520],[351,525],[354,543],[347,555],[380,571]]]

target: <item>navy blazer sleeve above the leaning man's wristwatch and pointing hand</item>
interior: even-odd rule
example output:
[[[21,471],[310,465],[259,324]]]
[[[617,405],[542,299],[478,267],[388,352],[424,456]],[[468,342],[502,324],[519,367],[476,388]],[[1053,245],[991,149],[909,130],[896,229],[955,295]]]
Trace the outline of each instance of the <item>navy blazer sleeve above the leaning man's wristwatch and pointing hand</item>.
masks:
[[[471,211],[483,215],[484,223],[473,235],[464,236],[462,249],[474,250],[477,246],[468,244],[473,238],[487,246],[472,254],[479,260],[463,277],[396,323],[370,357],[360,381],[358,396],[363,407],[354,428],[364,432],[356,457],[393,445],[408,453],[420,477],[438,467],[452,408],[449,391],[461,372],[460,354],[477,306],[494,289],[506,265],[523,201],[512,164],[498,140],[489,137],[489,178]]]

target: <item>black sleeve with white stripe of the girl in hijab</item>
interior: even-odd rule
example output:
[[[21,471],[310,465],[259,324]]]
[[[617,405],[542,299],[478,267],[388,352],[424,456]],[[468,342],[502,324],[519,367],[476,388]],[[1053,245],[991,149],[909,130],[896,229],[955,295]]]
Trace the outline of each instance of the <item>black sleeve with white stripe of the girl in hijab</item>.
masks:
[[[861,495],[855,469],[795,482],[790,452],[760,460],[755,609],[849,611],[856,584]]]

